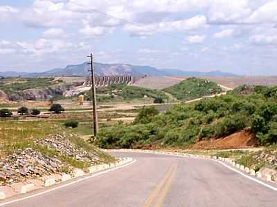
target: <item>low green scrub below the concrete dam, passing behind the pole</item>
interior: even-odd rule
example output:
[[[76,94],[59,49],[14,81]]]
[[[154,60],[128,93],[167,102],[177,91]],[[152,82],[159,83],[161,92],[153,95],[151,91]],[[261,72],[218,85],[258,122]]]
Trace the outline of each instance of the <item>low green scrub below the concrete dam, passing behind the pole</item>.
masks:
[[[143,99],[145,96],[151,99],[161,98],[167,100],[166,94],[159,90],[150,90],[137,86],[127,86],[126,84],[112,85],[106,88],[97,88],[97,99],[100,102],[107,101],[130,101],[133,99]],[[91,100],[91,90],[86,92],[85,97]]]

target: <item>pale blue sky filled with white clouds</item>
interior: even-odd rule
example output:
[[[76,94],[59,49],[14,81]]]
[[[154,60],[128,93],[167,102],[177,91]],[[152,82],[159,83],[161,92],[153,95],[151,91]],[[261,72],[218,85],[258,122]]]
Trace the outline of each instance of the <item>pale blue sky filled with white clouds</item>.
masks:
[[[277,0],[0,0],[0,71],[88,61],[277,75]]]

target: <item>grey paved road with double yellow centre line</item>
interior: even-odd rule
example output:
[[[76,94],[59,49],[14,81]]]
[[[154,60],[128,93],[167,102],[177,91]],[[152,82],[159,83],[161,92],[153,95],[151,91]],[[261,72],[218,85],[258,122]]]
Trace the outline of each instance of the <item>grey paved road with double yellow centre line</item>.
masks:
[[[7,206],[277,206],[276,191],[215,161],[141,153],[116,155],[134,157],[136,163]]]

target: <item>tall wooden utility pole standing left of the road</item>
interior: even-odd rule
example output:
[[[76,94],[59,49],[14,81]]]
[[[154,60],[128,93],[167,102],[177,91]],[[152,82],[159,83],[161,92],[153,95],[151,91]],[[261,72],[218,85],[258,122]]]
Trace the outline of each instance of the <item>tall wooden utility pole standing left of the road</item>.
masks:
[[[95,77],[94,77],[94,65],[93,65],[93,55],[88,56],[91,59],[89,65],[91,65],[91,99],[92,99],[92,106],[93,106],[93,134],[94,139],[98,133],[98,117],[97,117],[97,108],[96,108],[96,86],[95,86]]]

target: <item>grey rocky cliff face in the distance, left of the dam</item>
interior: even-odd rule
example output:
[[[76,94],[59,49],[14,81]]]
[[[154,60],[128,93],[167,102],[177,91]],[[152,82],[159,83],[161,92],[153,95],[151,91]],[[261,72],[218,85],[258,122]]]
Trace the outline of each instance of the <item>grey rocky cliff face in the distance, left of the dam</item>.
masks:
[[[66,90],[71,90],[71,88],[73,88],[73,86],[64,84],[59,86],[51,86],[48,88],[26,89],[22,92],[15,92],[11,95],[8,95],[8,99],[10,99],[10,101],[46,100],[51,99],[55,95],[63,95]]]

